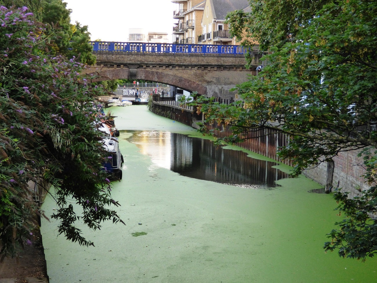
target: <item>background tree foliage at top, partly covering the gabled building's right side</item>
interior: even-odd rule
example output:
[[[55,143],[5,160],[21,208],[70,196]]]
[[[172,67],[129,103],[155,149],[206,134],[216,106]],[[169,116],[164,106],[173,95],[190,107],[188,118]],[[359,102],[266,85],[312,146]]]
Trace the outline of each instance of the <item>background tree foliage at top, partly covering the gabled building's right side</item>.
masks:
[[[227,15],[230,32],[244,46],[257,41],[260,49],[281,47],[296,42],[296,35],[308,25],[329,0],[250,0],[251,12],[234,11]]]

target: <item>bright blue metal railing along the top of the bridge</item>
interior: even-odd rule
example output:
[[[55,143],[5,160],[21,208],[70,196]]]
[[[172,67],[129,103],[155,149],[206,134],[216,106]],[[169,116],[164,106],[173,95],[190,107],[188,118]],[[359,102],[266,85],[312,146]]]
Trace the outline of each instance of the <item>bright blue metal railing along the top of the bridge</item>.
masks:
[[[245,54],[246,53],[246,48],[239,45],[102,42],[102,41],[90,41],[89,44],[93,46],[93,51],[200,53],[200,54]]]

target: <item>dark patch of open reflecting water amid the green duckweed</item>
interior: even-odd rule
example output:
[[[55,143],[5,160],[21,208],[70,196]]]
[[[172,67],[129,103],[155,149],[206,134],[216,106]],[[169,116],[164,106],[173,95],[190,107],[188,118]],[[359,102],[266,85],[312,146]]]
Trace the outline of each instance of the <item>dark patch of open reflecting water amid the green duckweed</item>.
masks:
[[[183,176],[246,188],[276,187],[288,174],[271,168],[276,162],[248,157],[245,152],[223,149],[212,141],[159,131],[129,131],[127,138],[156,165]]]

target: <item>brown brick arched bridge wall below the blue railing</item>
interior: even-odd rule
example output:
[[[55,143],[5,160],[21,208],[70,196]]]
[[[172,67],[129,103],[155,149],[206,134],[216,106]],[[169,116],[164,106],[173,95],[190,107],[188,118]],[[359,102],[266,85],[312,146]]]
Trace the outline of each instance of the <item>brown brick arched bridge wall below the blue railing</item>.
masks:
[[[113,44],[116,48],[116,43]],[[99,75],[95,81],[149,80],[229,100],[235,98],[229,89],[245,82],[248,75],[256,74],[255,69],[262,63],[259,60],[262,55],[256,51],[250,69],[245,68],[244,54],[132,52],[110,48],[95,50],[93,54],[97,56],[97,64],[87,68],[86,73]]]

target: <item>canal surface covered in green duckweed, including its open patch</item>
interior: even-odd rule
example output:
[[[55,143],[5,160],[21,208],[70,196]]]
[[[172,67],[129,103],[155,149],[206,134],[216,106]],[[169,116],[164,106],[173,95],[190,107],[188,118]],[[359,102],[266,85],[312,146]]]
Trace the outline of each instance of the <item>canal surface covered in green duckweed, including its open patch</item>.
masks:
[[[126,226],[93,232],[79,224],[95,244],[87,248],[43,219],[51,283],[377,282],[375,259],[323,251],[341,218],[331,195],[308,192],[317,183],[288,178],[290,167],[252,152],[213,146],[145,106],[110,110],[124,155],[112,197]],[[55,208],[48,197],[42,209]]]

